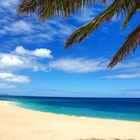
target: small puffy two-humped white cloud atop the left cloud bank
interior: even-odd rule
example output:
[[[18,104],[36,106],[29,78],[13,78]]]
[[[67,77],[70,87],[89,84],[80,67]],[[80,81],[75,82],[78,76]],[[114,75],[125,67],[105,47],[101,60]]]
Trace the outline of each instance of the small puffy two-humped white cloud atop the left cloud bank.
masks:
[[[51,50],[49,49],[35,49],[35,50],[26,50],[22,46],[18,46],[15,49],[15,53],[19,55],[28,55],[28,56],[36,56],[41,58],[52,58]]]

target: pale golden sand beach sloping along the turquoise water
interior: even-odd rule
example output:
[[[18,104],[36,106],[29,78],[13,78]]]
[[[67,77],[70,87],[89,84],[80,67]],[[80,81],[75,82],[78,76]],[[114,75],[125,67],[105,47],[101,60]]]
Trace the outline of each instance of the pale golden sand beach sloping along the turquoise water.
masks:
[[[0,140],[92,138],[140,140],[140,122],[58,115],[32,111],[17,107],[12,102],[0,101]]]

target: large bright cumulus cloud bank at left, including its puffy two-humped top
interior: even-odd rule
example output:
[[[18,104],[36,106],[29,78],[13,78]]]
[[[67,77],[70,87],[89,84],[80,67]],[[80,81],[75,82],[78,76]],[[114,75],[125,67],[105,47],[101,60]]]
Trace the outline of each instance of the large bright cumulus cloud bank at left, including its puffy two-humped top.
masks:
[[[46,71],[47,67],[38,58],[52,58],[51,51],[44,48],[27,50],[19,46],[10,53],[0,53],[0,71]]]

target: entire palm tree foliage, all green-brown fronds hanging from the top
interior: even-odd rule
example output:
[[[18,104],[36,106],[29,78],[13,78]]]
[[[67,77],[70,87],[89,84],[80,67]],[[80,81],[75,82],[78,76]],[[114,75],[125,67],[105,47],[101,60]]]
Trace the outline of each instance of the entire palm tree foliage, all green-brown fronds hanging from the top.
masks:
[[[108,0],[21,0],[17,10],[18,15],[36,14],[41,21],[45,21],[50,16],[61,15],[64,17],[73,15],[78,10],[83,9],[87,5],[92,5],[100,1],[103,3]],[[96,18],[89,23],[74,31],[66,40],[65,48],[69,48],[73,44],[80,43],[89,34],[91,34],[103,21],[108,23],[117,15],[124,14],[122,28],[125,28],[132,16],[140,10],[140,0],[111,0],[109,6]],[[125,42],[116,52],[111,62],[108,64],[112,68],[122,61],[126,55],[134,52],[140,45],[140,25],[127,36]]]

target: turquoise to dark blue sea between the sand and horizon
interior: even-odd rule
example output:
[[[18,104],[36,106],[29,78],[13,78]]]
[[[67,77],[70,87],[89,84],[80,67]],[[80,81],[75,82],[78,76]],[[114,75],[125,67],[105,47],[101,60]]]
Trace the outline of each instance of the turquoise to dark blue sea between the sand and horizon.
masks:
[[[140,121],[140,98],[51,98],[1,96],[0,100],[14,101],[21,107],[43,112]]]

